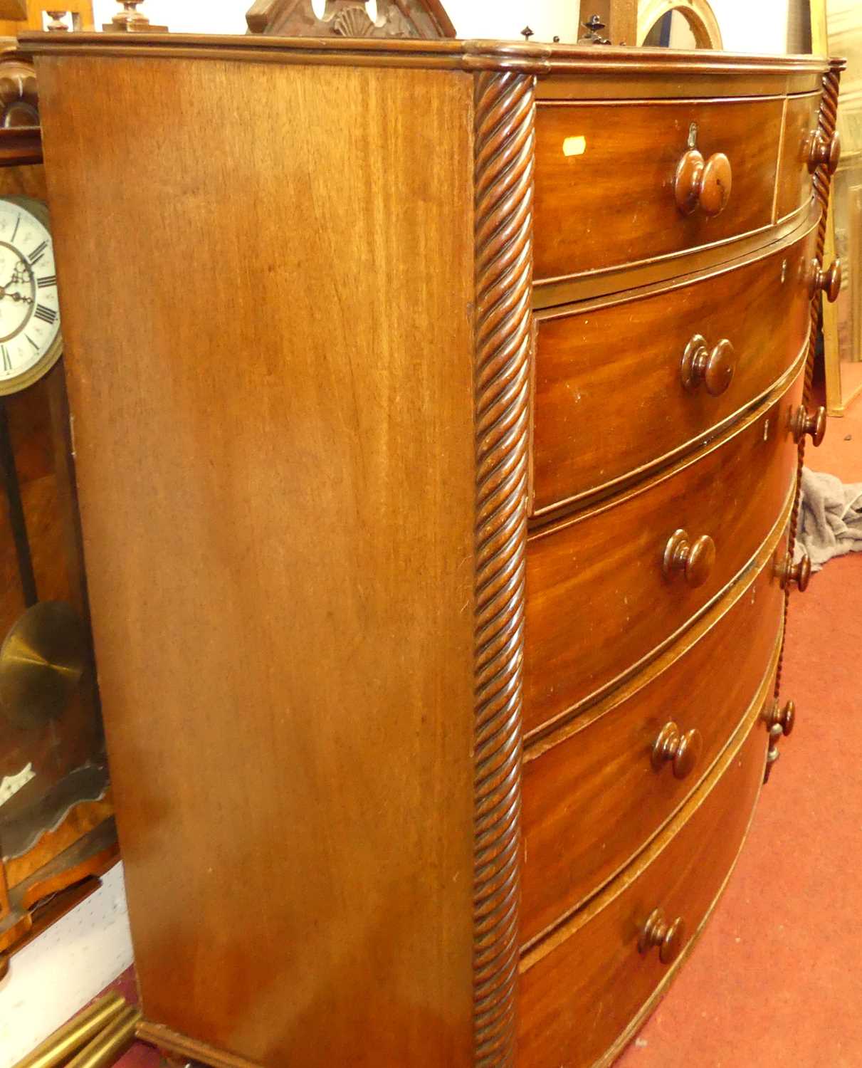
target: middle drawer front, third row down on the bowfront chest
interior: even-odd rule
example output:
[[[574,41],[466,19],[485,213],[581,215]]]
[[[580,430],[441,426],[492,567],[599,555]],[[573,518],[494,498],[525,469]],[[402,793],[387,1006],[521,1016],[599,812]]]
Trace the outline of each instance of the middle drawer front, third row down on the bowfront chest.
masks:
[[[800,373],[780,400],[707,453],[528,541],[528,734],[631,672],[749,563],[796,476],[788,424],[801,393]],[[712,539],[711,570],[665,577],[678,530],[692,544]]]

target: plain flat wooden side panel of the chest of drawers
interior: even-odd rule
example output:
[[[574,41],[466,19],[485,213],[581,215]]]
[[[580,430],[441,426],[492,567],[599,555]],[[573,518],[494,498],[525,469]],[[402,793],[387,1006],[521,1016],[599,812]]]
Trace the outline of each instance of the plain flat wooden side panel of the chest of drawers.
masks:
[[[472,77],[40,78],[145,1015],[472,1064]]]

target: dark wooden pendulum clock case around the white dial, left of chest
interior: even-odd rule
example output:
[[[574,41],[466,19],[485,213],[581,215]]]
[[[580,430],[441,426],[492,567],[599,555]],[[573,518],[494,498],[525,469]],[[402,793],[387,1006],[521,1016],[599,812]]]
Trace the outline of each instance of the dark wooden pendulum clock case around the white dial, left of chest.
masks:
[[[32,210],[47,200],[35,75],[14,41],[5,46],[0,197]],[[56,350],[0,395],[0,977],[119,855],[61,346],[58,334]],[[43,679],[15,676],[16,642],[42,650]],[[73,662],[74,686],[60,692]]]

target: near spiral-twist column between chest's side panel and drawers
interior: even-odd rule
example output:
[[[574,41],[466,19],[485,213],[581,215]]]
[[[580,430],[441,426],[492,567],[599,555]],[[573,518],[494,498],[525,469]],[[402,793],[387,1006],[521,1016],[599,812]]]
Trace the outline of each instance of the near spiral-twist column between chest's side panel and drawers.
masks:
[[[514,1064],[534,79],[475,82],[474,1062]]]

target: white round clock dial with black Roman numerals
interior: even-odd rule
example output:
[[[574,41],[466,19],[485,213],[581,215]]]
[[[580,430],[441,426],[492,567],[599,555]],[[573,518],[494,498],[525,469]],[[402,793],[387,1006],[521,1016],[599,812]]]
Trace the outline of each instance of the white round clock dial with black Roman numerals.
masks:
[[[43,204],[0,198],[0,393],[35,381],[60,355],[57,268]]]

